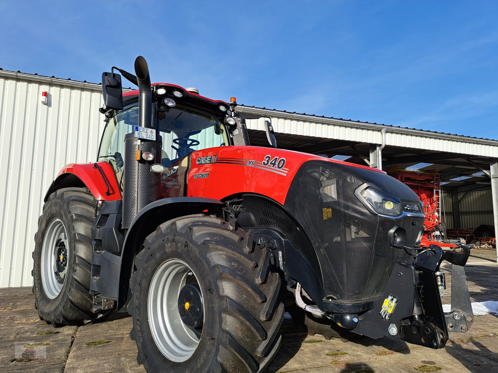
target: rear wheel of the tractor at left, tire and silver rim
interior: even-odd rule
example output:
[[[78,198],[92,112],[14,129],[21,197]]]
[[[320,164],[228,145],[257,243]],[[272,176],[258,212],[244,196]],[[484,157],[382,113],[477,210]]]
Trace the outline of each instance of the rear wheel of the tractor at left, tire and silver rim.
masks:
[[[38,219],[31,272],[35,308],[54,327],[83,325],[112,311],[95,308],[90,295],[95,205],[87,188],[62,188],[50,194]]]

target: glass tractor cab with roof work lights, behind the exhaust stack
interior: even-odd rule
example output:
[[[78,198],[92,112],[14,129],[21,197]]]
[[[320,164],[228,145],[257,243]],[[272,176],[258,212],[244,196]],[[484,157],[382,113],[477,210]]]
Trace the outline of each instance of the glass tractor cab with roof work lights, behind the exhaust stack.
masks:
[[[147,132],[162,141],[160,159],[154,159],[154,162],[162,165],[166,173],[180,166],[193,151],[233,144],[237,124],[229,104],[205,98],[194,90],[164,83],[152,84],[155,125]],[[106,110],[106,127],[98,160],[110,163],[120,181],[124,167],[124,137],[134,133],[139,126],[138,100],[138,90],[127,92],[123,95],[123,108]],[[234,106],[234,102],[231,105]]]

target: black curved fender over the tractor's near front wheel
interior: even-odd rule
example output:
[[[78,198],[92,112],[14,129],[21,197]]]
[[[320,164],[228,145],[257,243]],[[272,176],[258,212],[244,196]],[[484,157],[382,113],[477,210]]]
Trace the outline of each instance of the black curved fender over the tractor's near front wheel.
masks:
[[[112,274],[113,271],[105,274],[110,276],[109,281],[117,279],[119,276],[119,289],[113,289],[114,296],[118,297],[118,310],[126,311],[126,304],[129,297],[129,279],[135,255],[143,248],[143,241],[156,228],[168,221],[180,216],[192,214],[217,214],[221,216],[222,208],[225,205],[212,198],[203,197],[169,197],[159,199],[142,208],[131,222],[126,237],[124,238],[121,260],[119,263],[119,273]],[[101,279],[103,274],[101,273]],[[104,282],[109,282],[104,280]],[[102,296],[105,297],[106,294]],[[113,294],[109,294],[113,298]]]

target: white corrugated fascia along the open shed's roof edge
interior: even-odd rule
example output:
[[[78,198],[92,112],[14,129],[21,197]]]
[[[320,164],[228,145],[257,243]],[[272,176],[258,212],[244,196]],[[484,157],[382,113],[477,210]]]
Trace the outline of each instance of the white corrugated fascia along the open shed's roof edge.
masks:
[[[280,133],[381,144],[380,131],[382,128],[385,128],[387,130],[386,145],[498,158],[498,141],[493,140],[317,117],[249,106],[238,106],[237,109],[243,112],[271,117],[275,132]],[[247,120],[247,126],[249,129],[264,131],[264,118]]]

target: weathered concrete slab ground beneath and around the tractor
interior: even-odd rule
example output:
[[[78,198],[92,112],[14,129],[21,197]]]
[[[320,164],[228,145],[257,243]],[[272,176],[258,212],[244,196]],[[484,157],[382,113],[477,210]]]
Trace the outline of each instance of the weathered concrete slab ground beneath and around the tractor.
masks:
[[[471,255],[466,272],[472,301],[498,300],[496,252],[472,250]],[[114,313],[102,323],[55,329],[38,319],[33,297],[28,287],[0,289],[0,372],[145,372],[136,364],[128,315]],[[450,333],[441,350],[394,337],[327,341],[292,327],[290,320],[281,332],[272,373],[498,372],[498,315],[476,316],[469,332]],[[45,358],[33,358],[44,353]]]

